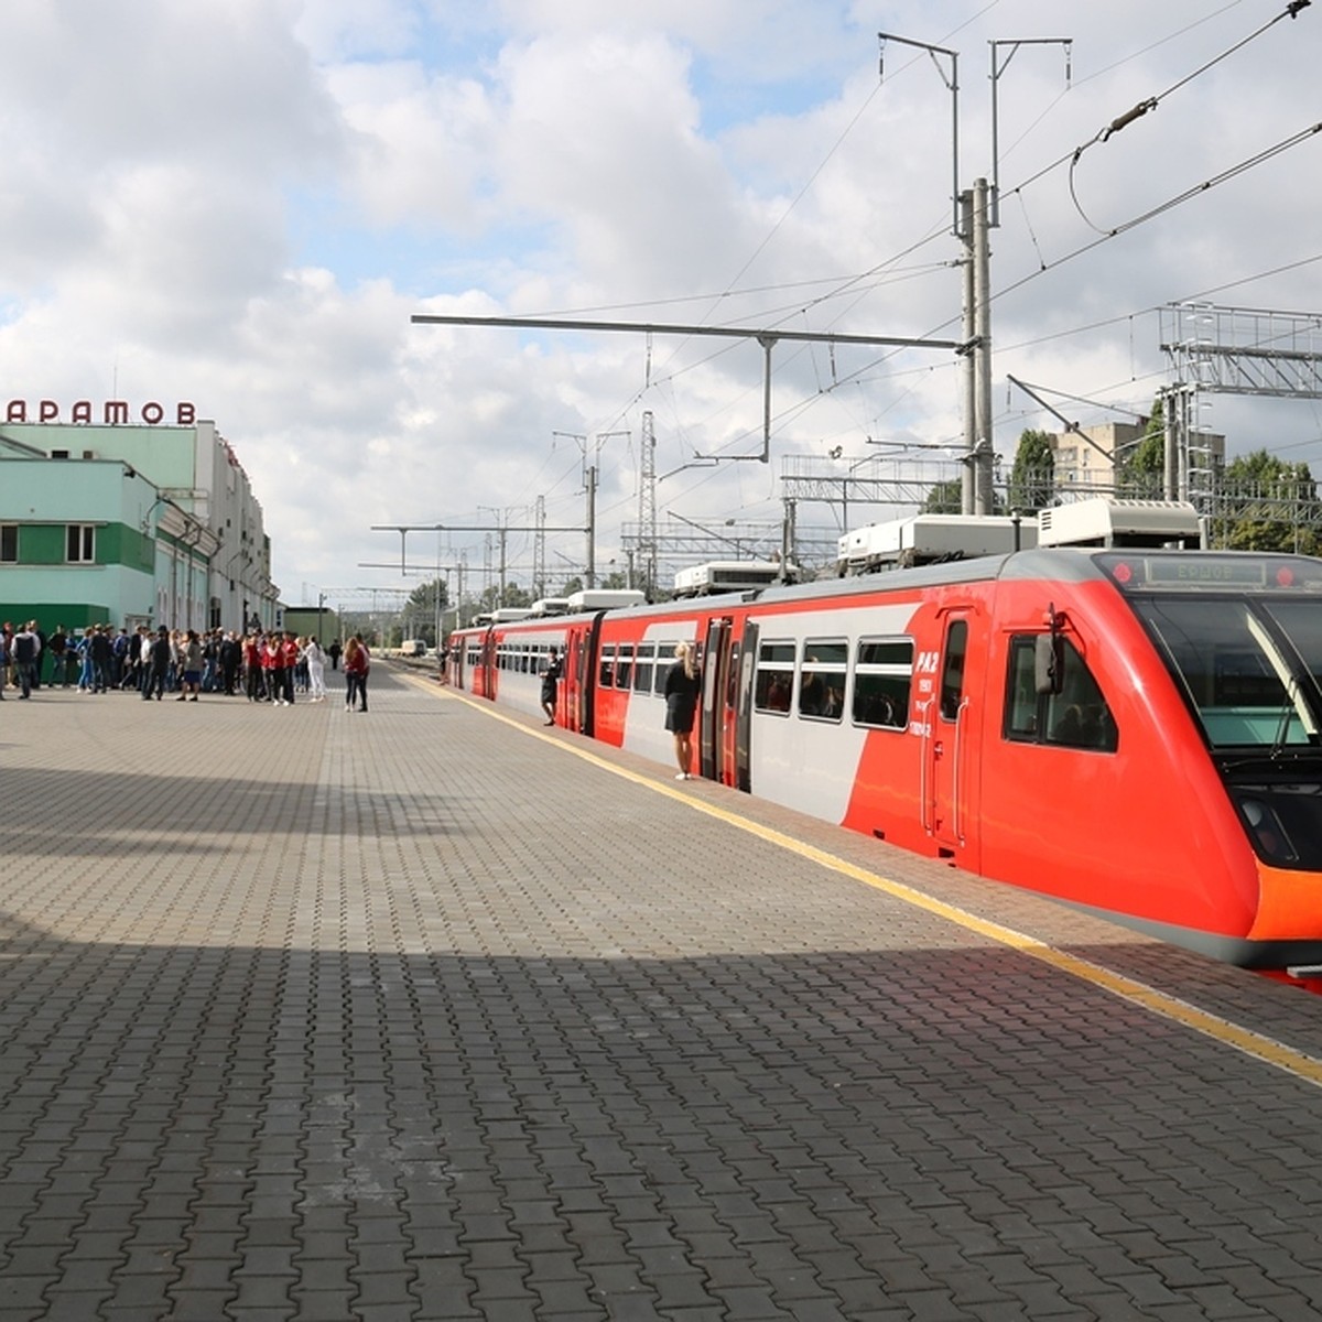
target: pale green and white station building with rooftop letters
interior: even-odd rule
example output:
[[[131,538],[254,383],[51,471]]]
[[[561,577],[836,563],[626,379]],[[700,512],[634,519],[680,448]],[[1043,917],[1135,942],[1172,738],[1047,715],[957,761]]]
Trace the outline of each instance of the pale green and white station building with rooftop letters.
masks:
[[[33,416],[34,415],[34,416]],[[274,625],[262,506],[213,422],[178,405],[9,401],[0,424],[0,619],[77,631]]]

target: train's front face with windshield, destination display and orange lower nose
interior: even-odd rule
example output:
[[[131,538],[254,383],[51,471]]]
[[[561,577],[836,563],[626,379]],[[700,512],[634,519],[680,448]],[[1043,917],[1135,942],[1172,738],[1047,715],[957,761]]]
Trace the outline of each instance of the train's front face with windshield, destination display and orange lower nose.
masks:
[[[1165,662],[1222,788],[1215,805],[1252,851],[1224,915],[1247,892],[1252,920],[1214,928],[1211,953],[1259,968],[1322,962],[1322,561],[1096,559]]]

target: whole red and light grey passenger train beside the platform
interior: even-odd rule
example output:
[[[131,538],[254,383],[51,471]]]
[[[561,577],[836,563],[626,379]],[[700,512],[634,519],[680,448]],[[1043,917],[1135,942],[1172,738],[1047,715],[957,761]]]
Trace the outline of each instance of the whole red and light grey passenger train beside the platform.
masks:
[[[1236,964],[1322,964],[1322,561],[1026,550],[489,623],[452,685]]]

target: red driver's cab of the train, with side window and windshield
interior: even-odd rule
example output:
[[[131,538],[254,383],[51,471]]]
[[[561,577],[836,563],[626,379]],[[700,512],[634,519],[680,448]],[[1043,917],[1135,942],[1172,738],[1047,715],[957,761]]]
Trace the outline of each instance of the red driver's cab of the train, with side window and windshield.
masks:
[[[1067,554],[998,586],[978,870],[1229,962],[1322,962],[1322,562]]]

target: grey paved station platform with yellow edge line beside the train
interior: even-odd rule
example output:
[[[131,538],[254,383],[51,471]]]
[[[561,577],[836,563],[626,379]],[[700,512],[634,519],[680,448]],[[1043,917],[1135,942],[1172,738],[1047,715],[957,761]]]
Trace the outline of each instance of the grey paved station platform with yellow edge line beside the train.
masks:
[[[1322,1317],[1318,997],[369,701],[0,705],[0,1322]]]

